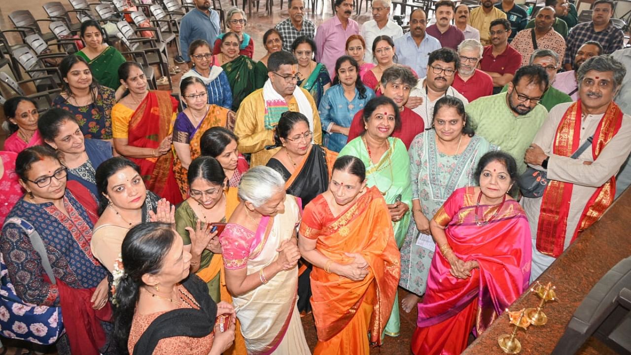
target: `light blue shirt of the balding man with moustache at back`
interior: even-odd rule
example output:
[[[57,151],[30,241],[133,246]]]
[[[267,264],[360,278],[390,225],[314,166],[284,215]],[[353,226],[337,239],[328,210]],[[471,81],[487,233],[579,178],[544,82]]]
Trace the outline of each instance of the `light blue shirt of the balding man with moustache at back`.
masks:
[[[425,33],[421,45],[416,46],[410,32],[394,40],[397,63],[409,66],[419,78],[427,76],[427,61],[431,52],[442,48],[439,40]]]

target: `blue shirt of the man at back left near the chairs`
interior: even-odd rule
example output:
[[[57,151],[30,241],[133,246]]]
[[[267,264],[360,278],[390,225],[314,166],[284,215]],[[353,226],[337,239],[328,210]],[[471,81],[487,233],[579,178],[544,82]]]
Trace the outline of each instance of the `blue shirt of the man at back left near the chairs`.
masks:
[[[182,17],[180,22],[180,49],[182,50],[182,57],[187,62],[191,61],[189,46],[192,41],[196,39],[206,40],[212,48],[217,36],[221,33],[217,11],[213,9],[208,9],[208,11],[210,11],[210,14],[206,15],[198,8],[194,8]]]

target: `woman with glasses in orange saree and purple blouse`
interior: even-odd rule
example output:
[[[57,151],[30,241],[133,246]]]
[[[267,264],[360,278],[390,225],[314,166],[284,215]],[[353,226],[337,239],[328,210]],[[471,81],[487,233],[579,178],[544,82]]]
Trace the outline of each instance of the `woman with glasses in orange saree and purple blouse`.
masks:
[[[201,155],[199,141],[203,133],[215,126],[234,128],[235,113],[220,105],[207,103],[208,89],[196,76],[182,79],[180,93],[186,109],[175,118],[173,147],[175,148],[174,174],[182,198],[187,198],[189,184],[187,170],[192,160]]]

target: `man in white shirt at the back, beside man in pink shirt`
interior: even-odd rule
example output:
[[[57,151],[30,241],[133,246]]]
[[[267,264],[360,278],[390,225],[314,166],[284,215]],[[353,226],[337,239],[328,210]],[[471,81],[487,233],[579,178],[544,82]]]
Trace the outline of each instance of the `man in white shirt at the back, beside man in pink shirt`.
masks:
[[[390,20],[391,0],[374,0],[372,2],[372,20],[365,21],[359,34],[366,42],[363,60],[372,63],[372,42],[377,36],[386,35],[392,40],[403,35],[403,28]]]

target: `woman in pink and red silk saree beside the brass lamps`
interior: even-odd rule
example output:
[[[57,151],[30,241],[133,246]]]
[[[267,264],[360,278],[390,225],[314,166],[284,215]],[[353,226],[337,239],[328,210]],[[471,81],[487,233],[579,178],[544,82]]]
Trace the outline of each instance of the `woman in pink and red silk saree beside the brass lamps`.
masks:
[[[515,160],[488,152],[475,172],[480,187],[459,188],[430,221],[436,242],[427,290],[412,337],[416,355],[460,354],[528,287],[530,227],[510,198]]]

